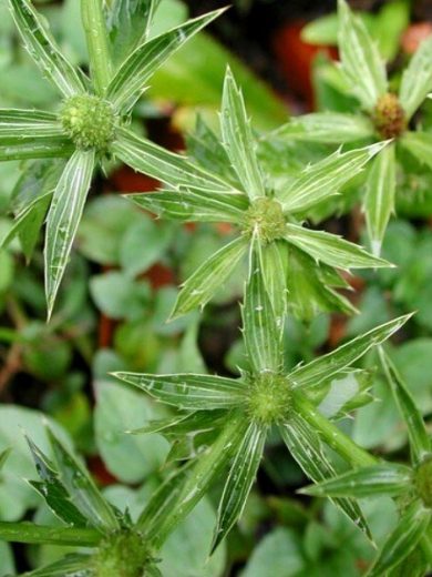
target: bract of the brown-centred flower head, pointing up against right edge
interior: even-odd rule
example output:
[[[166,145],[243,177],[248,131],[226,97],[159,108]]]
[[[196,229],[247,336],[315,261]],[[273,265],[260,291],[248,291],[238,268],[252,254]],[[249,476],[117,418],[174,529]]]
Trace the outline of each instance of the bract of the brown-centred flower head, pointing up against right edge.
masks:
[[[408,119],[426,99],[432,90],[432,38],[420,44],[402,74],[399,98]]]

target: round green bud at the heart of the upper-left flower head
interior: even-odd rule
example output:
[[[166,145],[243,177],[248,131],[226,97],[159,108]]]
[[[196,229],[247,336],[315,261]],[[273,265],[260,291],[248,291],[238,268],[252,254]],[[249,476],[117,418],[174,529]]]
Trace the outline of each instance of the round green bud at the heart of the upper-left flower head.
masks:
[[[71,97],[60,111],[60,121],[68,136],[79,149],[104,151],[114,140],[114,109],[110,102],[99,97]]]

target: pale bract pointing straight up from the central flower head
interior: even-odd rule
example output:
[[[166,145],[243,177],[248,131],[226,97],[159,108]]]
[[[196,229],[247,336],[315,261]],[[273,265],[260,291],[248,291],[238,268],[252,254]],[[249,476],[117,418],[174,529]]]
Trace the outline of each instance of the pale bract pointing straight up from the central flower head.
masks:
[[[250,121],[246,114],[245,101],[229,68],[226,71],[220,113],[222,139],[250,200],[265,195],[263,176],[256,155]]]

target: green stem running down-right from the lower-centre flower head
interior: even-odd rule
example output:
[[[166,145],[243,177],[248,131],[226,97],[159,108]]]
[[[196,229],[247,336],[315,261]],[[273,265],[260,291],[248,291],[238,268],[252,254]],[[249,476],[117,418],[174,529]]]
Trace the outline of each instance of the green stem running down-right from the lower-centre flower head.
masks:
[[[296,404],[301,411],[301,416],[311,425],[323,441],[335,449],[348,463],[356,467],[368,467],[377,464],[366,449],[361,448],[350,437],[344,435],[339,427],[326,418],[312,403],[304,395],[296,395]]]

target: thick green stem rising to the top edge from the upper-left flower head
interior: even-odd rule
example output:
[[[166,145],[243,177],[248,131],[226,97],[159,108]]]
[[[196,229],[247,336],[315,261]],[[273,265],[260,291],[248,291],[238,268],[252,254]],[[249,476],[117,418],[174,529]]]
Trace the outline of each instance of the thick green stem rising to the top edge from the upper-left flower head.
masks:
[[[112,61],[102,0],[81,0],[81,18],[94,87],[96,92],[103,95],[112,78]]]

